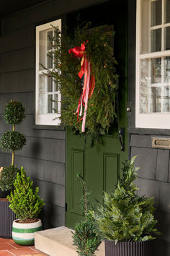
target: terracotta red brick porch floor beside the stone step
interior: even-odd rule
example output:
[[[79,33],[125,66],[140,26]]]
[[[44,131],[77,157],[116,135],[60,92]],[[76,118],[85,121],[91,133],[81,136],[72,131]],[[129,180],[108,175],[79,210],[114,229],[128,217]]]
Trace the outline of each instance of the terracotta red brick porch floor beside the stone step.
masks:
[[[3,238],[0,238],[0,255],[45,256],[43,252],[38,251],[37,249],[35,249],[34,246],[20,246],[18,244],[15,244],[15,242],[12,239],[3,239]]]

